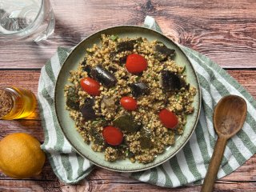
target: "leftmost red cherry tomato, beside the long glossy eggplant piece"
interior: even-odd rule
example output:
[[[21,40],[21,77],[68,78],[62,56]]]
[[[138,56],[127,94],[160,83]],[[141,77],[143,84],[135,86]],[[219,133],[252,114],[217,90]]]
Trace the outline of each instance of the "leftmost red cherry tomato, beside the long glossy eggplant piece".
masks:
[[[80,85],[82,90],[85,90],[90,95],[98,96],[101,93],[99,83],[92,78],[82,78]]]

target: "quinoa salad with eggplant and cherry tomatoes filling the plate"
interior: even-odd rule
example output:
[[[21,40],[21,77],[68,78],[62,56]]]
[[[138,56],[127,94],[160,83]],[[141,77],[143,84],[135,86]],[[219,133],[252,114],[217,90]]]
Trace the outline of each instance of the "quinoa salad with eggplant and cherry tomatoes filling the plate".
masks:
[[[182,135],[197,90],[175,54],[157,40],[102,34],[70,71],[66,110],[106,161],[153,162]]]

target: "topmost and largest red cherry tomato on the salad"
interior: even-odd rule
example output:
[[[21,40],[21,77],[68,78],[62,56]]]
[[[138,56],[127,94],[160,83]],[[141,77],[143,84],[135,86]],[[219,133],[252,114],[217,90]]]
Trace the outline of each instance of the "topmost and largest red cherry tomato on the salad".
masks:
[[[132,74],[141,73],[146,70],[146,59],[140,54],[129,54],[126,59],[126,69]]]

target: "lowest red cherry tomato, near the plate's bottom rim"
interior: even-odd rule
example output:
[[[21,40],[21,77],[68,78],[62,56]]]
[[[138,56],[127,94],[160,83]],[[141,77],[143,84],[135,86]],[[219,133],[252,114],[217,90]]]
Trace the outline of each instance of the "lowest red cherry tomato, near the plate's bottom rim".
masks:
[[[102,131],[103,138],[106,143],[111,146],[118,146],[122,143],[123,134],[122,131],[114,126],[106,126]]]

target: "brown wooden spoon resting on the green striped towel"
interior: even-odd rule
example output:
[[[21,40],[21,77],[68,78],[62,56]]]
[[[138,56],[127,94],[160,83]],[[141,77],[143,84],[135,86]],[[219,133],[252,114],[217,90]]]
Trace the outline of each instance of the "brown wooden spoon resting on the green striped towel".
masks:
[[[215,107],[214,129],[218,134],[218,140],[214,147],[214,154],[210,159],[210,165],[201,189],[202,192],[213,190],[226,142],[241,130],[246,120],[246,113],[246,101],[237,95],[228,95],[222,98]]]

